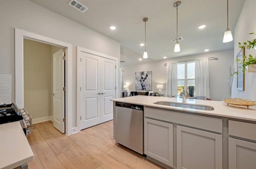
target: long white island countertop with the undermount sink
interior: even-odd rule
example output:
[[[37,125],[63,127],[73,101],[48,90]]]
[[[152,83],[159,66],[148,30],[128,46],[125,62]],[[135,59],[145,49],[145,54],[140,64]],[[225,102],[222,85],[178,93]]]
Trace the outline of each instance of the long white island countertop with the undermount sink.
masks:
[[[116,98],[116,99],[112,99],[112,101],[139,104],[139,105],[151,106],[156,108],[167,108],[170,110],[182,110],[186,112],[208,114],[212,116],[251,120],[256,122],[256,106],[250,106],[249,108],[247,108],[246,106],[227,105],[226,103],[221,101],[186,99],[186,103],[188,104],[198,104],[198,105],[206,105],[206,106],[214,107],[214,110],[197,110],[197,109],[190,109],[190,108],[181,108],[181,107],[154,104],[154,102],[159,102],[159,101],[182,103],[182,98],[141,96],[141,95],[124,97],[124,98]]]

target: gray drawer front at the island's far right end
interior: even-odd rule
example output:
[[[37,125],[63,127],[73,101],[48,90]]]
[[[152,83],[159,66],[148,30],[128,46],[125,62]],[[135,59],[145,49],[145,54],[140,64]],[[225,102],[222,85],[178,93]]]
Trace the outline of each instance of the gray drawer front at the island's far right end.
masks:
[[[256,141],[256,124],[228,120],[228,134]]]

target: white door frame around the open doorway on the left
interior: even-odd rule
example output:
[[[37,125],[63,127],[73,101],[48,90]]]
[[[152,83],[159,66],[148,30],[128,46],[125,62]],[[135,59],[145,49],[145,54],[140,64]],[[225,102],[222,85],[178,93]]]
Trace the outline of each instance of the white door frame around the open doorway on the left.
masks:
[[[66,48],[66,135],[72,134],[72,45],[49,37],[15,28],[15,104],[24,108],[23,39]]]

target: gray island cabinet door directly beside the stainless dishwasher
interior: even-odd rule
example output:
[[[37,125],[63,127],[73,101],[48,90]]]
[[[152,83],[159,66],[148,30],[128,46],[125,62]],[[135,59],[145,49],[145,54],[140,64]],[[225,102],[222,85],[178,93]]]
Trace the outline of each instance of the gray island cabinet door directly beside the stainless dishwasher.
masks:
[[[173,125],[144,118],[144,153],[173,167]]]

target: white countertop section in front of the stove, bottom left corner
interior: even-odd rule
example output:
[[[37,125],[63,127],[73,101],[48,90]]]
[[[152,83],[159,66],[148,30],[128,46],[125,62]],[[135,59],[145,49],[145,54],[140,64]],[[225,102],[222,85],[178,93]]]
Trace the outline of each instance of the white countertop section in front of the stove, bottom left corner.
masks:
[[[0,169],[13,169],[33,159],[20,122],[0,124]]]

